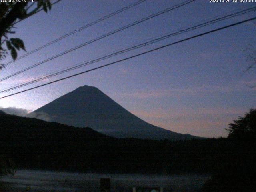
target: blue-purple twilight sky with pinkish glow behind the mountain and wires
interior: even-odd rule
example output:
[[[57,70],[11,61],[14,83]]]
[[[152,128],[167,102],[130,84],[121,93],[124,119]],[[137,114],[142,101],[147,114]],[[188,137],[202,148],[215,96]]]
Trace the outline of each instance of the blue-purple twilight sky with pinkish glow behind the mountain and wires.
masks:
[[[230,0],[232,1],[232,0]],[[62,0],[51,12],[39,12],[16,25],[16,34],[30,51],[136,0]],[[60,42],[10,64],[0,72],[3,78],[69,48],[130,24],[140,18],[183,2],[148,0],[104,22],[86,28]],[[156,18],[108,36],[32,70],[0,82],[8,88],[38,76],[104,56],[181,28],[242,10],[256,3],[210,3],[197,0]],[[161,45],[256,16],[244,14],[223,22],[174,36],[144,48],[92,64],[0,94],[5,96],[102,64],[119,60]],[[227,136],[228,123],[256,107],[255,69],[248,49],[256,50],[256,21],[188,40],[150,54],[82,74],[55,84],[0,100],[0,108],[36,110],[79,86],[95,86],[143,120],[179,133],[196,136]],[[18,52],[21,56],[25,52]],[[3,63],[10,61],[8,57]]]

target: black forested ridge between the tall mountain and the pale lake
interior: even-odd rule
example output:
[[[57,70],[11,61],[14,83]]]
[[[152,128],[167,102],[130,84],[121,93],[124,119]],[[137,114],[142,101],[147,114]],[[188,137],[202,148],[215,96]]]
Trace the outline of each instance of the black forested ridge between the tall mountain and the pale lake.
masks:
[[[230,162],[237,147],[226,139],[120,139],[0,111],[0,162],[17,168],[82,172],[209,172]],[[229,155],[230,154],[230,155]],[[1,162],[2,164],[2,162]],[[1,166],[0,164],[0,166]]]

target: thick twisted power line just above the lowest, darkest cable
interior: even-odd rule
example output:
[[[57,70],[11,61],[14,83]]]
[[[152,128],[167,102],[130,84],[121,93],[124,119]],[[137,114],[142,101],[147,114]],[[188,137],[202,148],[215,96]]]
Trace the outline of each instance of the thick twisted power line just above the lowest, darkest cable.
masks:
[[[248,9],[245,9],[245,10],[242,10],[242,11],[239,11],[239,12],[236,12],[236,13],[233,13],[233,14],[229,14],[229,15],[226,15],[226,16],[222,16],[220,18],[215,18],[213,20],[210,20],[210,21],[207,21],[207,22],[204,22],[202,24],[198,24],[196,26],[192,26],[192,27],[189,27],[189,28],[186,28],[186,29],[183,29],[183,30],[178,30],[177,32],[174,32],[174,33],[170,33],[170,34],[167,34],[165,36],[160,36],[159,38],[156,38],[156,39],[153,39],[153,40],[149,40],[149,41],[146,41],[146,42],[143,42],[141,44],[138,44],[136,46],[132,46],[132,47],[129,47],[129,48],[125,48],[123,50],[120,50],[118,52],[114,52],[112,54],[108,54],[106,56],[103,56],[103,57],[100,57],[100,58],[96,58],[94,60],[90,60],[88,62],[85,62],[85,63],[82,63],[82,64],[78,64],[76,66],[73,66],[73,67],[70,67],[70,68],[66,68],[66,69],[63,69],[63,70],[58,70],[57,72],[53,72],[51,74],[46,74],[44,76],[41,76],[40,78],[37,78],[37,79],[34,79],[34,80],[30,80],[30,81],[27,81],[25,83],[21,83],[21,84],[18,84],[18,85],[15,85],[15,86],[12,86],[10,88],[7,88],[7,89],[2,89],[0,90],[0,93],[3,93],[3,92],[8,92],[8,91],[11,91],[11,90],[14,90],[14,89],[17,89],[17,88],[20,88],[20,87],[23,87],[23,86],[27,86],[29,84],[33,84],[33,83],[36,83],[36,82],[39,82],[41,80],[44,80],[44,79],[47,79],[47,78],[51,78],[53,76],[56,76],[56,75],[59,75],[59,74],[62,74],[62,73],[65,73],[65,72],[68,72],[68,71],[71,71],[71,70],[75,70],[75,69],[78,69],[78,68],[81,68],[83,66],[87,66],[89,64],[93,64],[95,62],[99,62],[101,60],[105,60],[107,58],[110,58],[110,57],[113,57],[113,56],[116,56],[118,54],[123,54],[125,52],[128,52],[128,51],[131,51],[131,50],[135,50],[135,49],[138,49],[138,48],[141,48],[141,47],[144,47],[144,46],[147,46],[147,45],[150,45],[150,44],[154,44],[156,42],[159,42],[161,40],[164,40],[166,38],[170,38],[172,36],[176,36],[178,34],[182,34],[184,32],[188,32],[188,31],[191,31],[191,30],[195,30],[195,29],[198,29],[198,28],[202,28],[204,26],[208,26],[210,24],[214,24],[216,22],[220,22],[220,21],[223,21],[223,20],[226,20],[226,19],[229,19],[229,18],[232,18],[232,17],[235,17],[235,16],[239,16],[241,14],[245,14],[245,13],[248,13],[248,12],[251,12],[251,11],[254,11],[256,9],[256,6],[252,7],[252,8],[248,8]]]

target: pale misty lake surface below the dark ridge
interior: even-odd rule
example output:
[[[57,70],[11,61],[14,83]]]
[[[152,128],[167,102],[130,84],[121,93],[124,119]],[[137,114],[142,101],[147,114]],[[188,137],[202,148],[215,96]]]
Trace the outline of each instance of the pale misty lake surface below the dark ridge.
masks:
[[[210,175],[206,174],[98,174],[40,170],[18,170],[0,182],[12,190],[30,192],[100,192],[100,178],[111,179],[112,192],[132,192],[132,187],[163,187],[164,192],[198,191]]]

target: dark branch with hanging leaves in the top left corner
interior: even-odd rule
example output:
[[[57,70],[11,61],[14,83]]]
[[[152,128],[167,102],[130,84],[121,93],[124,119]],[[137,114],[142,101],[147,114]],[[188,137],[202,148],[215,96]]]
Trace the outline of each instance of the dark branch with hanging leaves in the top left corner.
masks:
[[[35,2],[37,6],[35,6]],[[41,8],[47,12],[51,10],[52,4],[50,0],[36,0],[35,2],[0,2],[0,60],[6,58],[8,52],[10,52],[12,59],[15,60],[18,56],[17,50],[20,48],[26,51],[24,42],[20,38],[10,38],[9,34],[14,34],[14,24],[21,20],[32,16],[38,12]],[[4,48],[6,44],[6,48]],[[4,68],[3,64],[0,64],[0,70]]]

